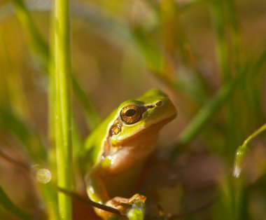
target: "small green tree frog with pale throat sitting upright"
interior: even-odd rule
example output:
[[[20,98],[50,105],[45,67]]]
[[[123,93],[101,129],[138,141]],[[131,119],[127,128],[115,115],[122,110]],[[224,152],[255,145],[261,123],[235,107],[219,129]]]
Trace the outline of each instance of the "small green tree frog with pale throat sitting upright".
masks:
[[[121,214],[134,202],[145,202],[144,195],[124,196],[152,153],[160,129],[175,116],[174,104],[160,90],[120,104],[85,141],[83,172],[90,199]],[[95,212],[102,219],[112,215],[97,208]]]

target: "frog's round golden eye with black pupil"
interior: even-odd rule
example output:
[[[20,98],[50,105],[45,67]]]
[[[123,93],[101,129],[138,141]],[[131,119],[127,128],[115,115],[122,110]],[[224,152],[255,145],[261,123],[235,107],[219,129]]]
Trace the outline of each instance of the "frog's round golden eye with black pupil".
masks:
[[[120,111],[120,117],[127,125],[137,123],[141,119],[141,109],[135,104],[129,104]]]

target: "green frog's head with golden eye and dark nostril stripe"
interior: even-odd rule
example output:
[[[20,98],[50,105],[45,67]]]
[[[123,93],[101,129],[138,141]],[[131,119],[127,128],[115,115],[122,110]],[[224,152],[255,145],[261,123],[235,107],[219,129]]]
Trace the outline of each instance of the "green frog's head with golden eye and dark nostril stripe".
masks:
[[[160,90],[148,90],[137,99],[123,102],[109,126],[112,144],[119,144],[152,128],[162,128],[176,116],[176,108]]]

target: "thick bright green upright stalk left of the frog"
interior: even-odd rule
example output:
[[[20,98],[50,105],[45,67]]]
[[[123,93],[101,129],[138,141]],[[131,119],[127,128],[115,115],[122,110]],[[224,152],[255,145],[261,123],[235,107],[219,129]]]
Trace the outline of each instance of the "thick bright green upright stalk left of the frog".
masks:
[[[55,147],[57,184],[71,190],[71,56],[69,1],[55,1]],[[71,219],[71,199],[58,193],[59,216]]]

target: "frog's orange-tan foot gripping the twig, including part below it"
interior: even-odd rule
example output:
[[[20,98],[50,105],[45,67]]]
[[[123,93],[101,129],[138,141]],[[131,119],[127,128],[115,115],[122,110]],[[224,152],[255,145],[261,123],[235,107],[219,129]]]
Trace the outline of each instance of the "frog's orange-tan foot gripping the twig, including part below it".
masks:
[[[120,214],[125,216],[127,214],[127,211],[132,207],[132,205],[135,202],[145,202],[145,201],[146,201],[146,196],[135,194],[131,198],[123,198],[117,196],[107,201],[105,205],[118,209]],[[108,219],[110,216],[113,215],[111,212],[106,212],[102,209],[95,208],[95,211],[99,216],[102,217],[102,219]]]

